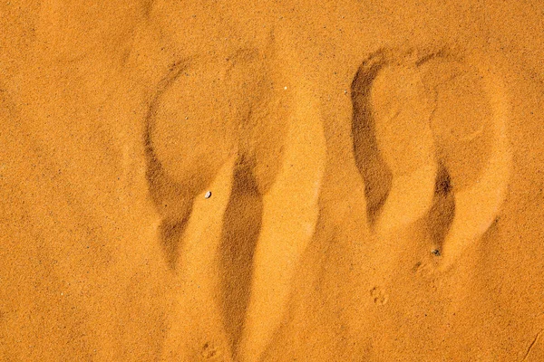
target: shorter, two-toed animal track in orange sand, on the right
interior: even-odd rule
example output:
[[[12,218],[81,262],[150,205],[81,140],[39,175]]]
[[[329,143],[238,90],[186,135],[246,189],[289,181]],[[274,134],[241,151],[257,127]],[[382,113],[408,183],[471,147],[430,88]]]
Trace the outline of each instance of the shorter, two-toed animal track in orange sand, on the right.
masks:
[[[426,220],[429,249],[440,251],[442,268],[451,266],[506,197],[511,156],[500,77],[447,50],[382,50],[357,71],[352,102],[374,233],[390,239]]]

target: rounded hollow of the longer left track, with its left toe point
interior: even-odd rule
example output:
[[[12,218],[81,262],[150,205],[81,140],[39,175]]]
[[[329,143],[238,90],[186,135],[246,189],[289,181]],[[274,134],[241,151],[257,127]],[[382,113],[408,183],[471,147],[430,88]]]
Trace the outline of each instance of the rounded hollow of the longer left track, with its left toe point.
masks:
[[[267,177],[274,178],[277,162],[268,165],[267,176],[255,175],[256,156],[246,139],[257,133],[254,128],[260,121],[252,108],[269,92],[263,89],[261,61],[262,54],[251,50],[223,58],[184,59],[170,67],[151,102],[144,134],[147,178],[172,269],[195,196],[209,186],[228,158],[240,154],[237,165],[248,168],[261,188],[271,183]],[[211,197],[211,192],[204,197]]]

